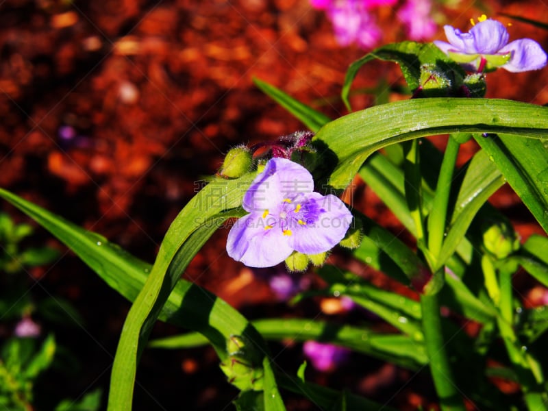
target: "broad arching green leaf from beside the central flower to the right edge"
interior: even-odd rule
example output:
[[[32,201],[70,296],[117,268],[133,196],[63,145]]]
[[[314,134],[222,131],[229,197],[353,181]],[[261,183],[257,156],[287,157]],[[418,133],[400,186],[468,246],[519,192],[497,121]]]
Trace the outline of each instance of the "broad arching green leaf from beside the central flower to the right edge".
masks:
[[[512,133],[545,138],[548,108],[501,99],[411,99],[377,105],[336,119],[314,137],[329,184],[345,188],[374,151],[395,142],[453,132]],[[329,158],[336,158],[336,162]]]

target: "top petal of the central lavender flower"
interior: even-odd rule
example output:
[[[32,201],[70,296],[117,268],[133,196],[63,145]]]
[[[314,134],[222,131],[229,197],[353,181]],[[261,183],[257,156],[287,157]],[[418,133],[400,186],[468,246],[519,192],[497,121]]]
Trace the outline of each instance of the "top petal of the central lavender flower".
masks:
[[[245,193],[242,206],[253,212],[278,206],[292,193],[312,192],[312,175],[300,164],[285,158],[272,158]]]

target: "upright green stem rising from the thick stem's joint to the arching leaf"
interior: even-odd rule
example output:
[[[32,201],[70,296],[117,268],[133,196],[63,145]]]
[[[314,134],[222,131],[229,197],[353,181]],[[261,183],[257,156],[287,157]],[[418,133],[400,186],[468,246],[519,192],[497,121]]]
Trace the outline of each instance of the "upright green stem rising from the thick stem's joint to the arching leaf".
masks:
[[[453,170],[455,169],[459,149],[460,143],[454,138],[449,137],[438,176],[436,195],[428,217],[428,249],[435,262],[438,260],[443,245],[447,220],[447,204],[449,203]],[[433,271],[436,271],[438,268],[437,264],[432,267]]]

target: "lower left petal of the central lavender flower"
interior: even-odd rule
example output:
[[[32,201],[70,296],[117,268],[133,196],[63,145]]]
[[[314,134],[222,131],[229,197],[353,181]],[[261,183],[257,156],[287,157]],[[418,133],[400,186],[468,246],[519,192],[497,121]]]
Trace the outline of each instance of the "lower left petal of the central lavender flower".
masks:
[[[227,238],[227,253],[249,267],[271,267],[289,257],[293,249],[281,229],[264,228],[262,214],[238,219]]]

